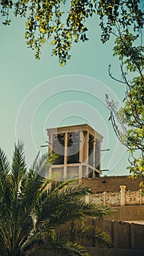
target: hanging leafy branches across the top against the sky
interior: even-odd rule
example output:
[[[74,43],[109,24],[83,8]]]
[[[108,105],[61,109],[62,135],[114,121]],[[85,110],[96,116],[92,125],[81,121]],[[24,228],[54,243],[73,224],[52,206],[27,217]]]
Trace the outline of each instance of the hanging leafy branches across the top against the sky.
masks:
[[[72,43],[88,40],[88,18],[99,16],[103,43],[110,39],[116,23],[124,28],[125,34],[130,26],[139,34],[144,21],[140,0],[1,0],[4,25],[10,25],[11,12],[26,18],[26,44],[35,51],[36,59],[42,45],[50,42],[52,55],[58,56],[62,66],[70,58]]]

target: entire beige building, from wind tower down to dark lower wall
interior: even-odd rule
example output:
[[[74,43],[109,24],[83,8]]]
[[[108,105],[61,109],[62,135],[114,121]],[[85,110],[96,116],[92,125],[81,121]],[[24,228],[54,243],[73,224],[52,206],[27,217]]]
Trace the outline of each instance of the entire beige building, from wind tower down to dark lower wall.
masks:
[[[47,129],[49,153],[57,158],[49,173],[59,173],[59,178],[77,176],[82,184],[89,184],[93,195],[87,195],[86,203],[108,205],[114,208],[109,219],[89,219],[93,227],[103,228],[110,234],[113,245],[84,244],[91,256],[142,256],[144,255],[144,197],[140,180],[127,176],[104,176],[101,174],[101,143],[99,135],[88,124]],[[56,256],[37,252],[34,256]]]

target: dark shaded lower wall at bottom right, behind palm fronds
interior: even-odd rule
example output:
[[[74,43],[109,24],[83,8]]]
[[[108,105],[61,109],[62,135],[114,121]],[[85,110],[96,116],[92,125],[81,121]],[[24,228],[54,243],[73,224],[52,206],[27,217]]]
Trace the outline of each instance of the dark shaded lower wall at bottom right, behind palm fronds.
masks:
[[[131,206],[132,208],[133,206]],[[137,206],[143,207],[143,206]],[[89,219],[89,225],[100,227],[110,234],[113,244],[107,248],[105,244],[85,243],[91,256],[142,256],[144,255],[144,225],[111,221],[106,219]],[[34,252],[33,256],[58,256],[56,253]]]

